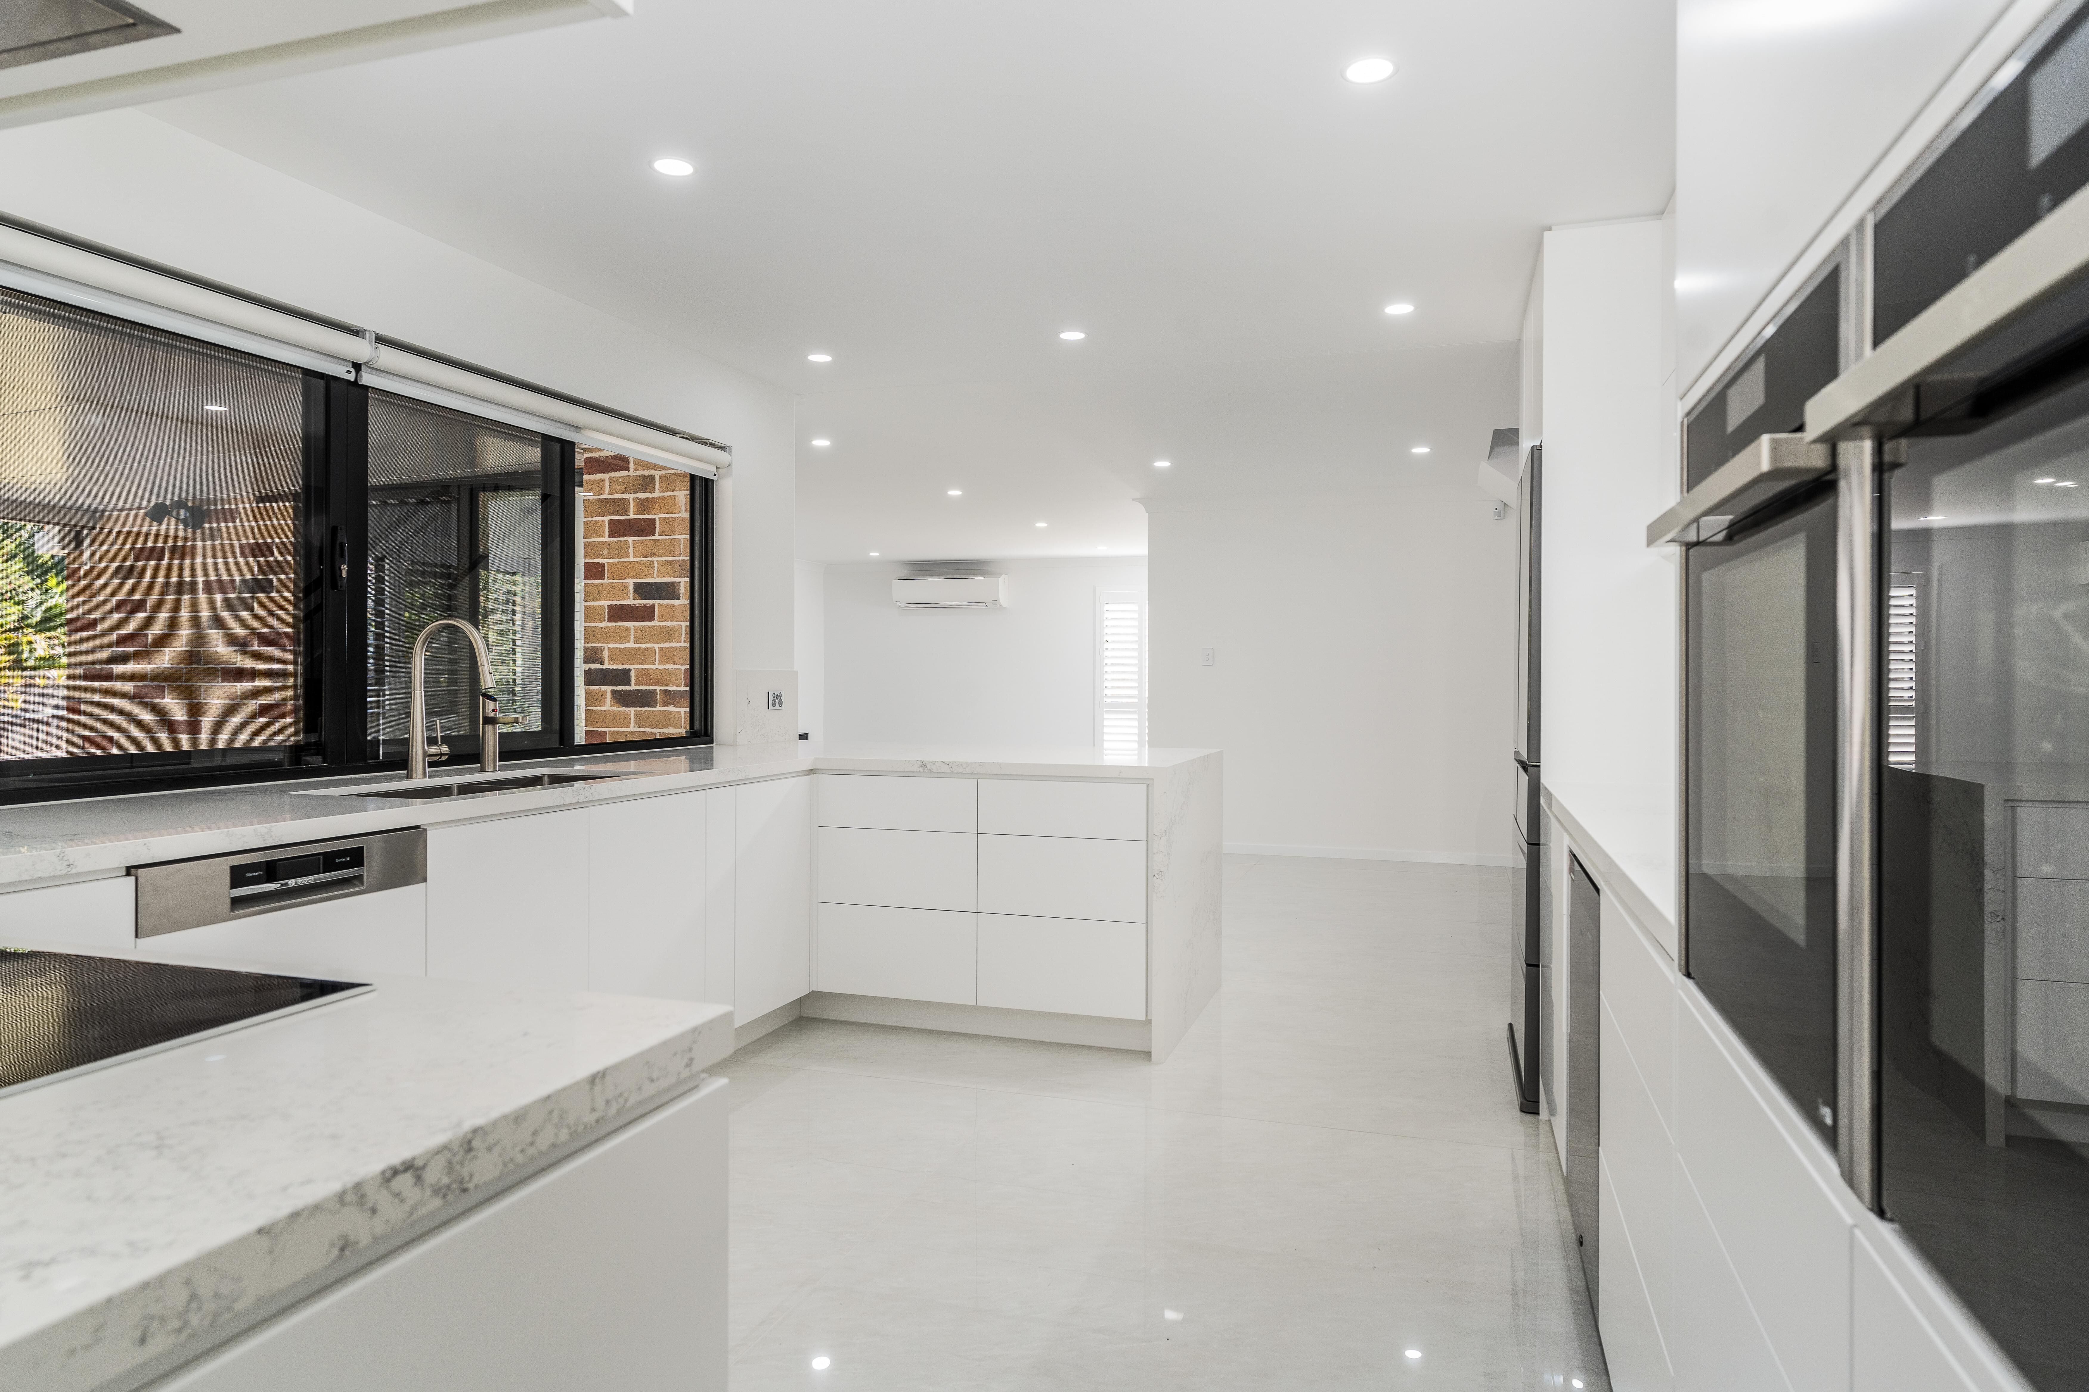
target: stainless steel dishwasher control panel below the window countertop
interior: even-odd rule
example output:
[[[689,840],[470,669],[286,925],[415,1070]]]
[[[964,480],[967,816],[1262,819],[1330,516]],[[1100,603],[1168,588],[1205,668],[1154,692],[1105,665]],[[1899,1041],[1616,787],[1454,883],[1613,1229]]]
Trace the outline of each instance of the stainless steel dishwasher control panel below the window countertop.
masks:
[[[343,841],[167,860],[132,866],[130,874],[138,881],[138,937],[159,937],[426,883],[428,837],[409,826]]]

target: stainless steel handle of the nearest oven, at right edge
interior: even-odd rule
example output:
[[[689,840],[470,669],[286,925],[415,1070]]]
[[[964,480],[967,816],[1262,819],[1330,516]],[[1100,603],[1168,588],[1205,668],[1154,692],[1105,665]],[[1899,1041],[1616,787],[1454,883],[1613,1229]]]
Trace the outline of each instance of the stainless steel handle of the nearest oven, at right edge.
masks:
[[[1807,401],[1809,440],[1891,434],[1907,390],[2089,273],[2089,188],[2035,221],[1978,271]],[[1905,422],[1901,422],[1905,424]]]

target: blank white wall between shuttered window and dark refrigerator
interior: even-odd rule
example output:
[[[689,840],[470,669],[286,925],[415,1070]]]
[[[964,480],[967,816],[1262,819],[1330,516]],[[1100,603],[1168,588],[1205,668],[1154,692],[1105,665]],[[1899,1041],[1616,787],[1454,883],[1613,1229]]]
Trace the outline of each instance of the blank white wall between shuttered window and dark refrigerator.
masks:
[[[1508,864],[1517,528],[1471,465],[1147,511],[1153,743],[1226,751],[1228,849]]]

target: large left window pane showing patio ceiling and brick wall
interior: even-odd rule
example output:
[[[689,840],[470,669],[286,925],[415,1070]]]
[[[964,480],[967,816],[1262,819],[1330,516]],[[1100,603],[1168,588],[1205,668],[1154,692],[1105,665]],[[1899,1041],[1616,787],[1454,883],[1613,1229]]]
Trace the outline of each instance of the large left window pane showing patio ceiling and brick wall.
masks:
[[[0,787],[295,762],[303,384],[0,296]]]

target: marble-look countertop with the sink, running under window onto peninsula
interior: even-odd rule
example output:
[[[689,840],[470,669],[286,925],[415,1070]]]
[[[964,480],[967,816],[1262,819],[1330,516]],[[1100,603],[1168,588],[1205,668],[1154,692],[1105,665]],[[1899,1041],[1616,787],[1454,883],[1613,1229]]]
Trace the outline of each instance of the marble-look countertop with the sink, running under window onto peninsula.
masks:
[[[508,770],[593,768],[637,774],[623,781],[579,783],[556,789],[407,801],[357,797],[355,787],[399,783],[403,774],[247,783],[240,787],[130,793],[75,801],[15,803],[0,808],[0,889],[77,874],[107,874],[125,866],[196,856],[224,856],[263,845],[361,837],[397,826],[437,826],[518,812],[687,789],[750,783],[806,772],[917,772],[948,776],[1028,778],[1134,778],[1153,781],[1166,770],[1212,755],[1210,749],[1101,749],[1055,747],[944,747],[944,745],[708,745],[675,753],[602,753],[572,760],[508,760]],[[435,776],[474,776],[476,766],[437,768]],[[343,791],[341,797],[318,793]],[[4,922],[4,912],[0,912]]]

